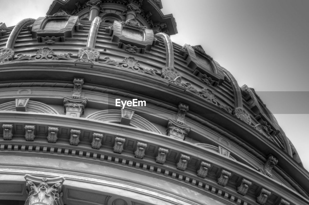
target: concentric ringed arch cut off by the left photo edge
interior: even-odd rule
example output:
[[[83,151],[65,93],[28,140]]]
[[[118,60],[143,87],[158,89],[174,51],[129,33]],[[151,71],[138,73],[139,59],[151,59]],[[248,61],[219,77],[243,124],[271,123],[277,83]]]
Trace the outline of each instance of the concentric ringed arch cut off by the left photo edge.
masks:
[[[16,111],[16,102],[6,102],[0,105],[0,111],[7,110],[7,111]],[[32,101],[29,100],[27,105],[26,112],[36,112],[36,113],[48,113],[48,114],[57,114],[59,113],[49,105],[46,105],[42,102]]]

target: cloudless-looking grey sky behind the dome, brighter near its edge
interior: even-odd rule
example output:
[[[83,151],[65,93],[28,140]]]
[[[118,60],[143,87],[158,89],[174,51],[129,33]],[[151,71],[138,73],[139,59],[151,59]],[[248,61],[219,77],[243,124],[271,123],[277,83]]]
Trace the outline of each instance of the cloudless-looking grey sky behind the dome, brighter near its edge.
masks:
[[[44,3],[43,3],[44,2]],[[45,16],[52,0],[0,0],[0,22]],[[238,81],[254,88],[309,170],[309,1],[162,0],[178,34],[201,45]]]

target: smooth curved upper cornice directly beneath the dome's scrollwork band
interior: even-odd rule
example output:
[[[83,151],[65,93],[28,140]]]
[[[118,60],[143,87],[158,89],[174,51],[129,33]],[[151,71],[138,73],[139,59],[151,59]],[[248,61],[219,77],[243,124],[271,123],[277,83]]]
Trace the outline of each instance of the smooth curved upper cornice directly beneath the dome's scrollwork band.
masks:
[[[130,72],[125,69],[115,69],[111,65],[95,64],[93,68],[85,69],[75,67],[74,62],[66,60],[59,60],[59,65],[55,65],[55,61],[51,60],[40,60],[39,62],[29,60],[1,64],[0,81],[5,82],[6,79],[10,79],[10,82],[20,81],[21,78],[16,76],[16,72],[19,72],[19,76],[23,76],[23,81],[33,79],[72,81],[74,77],[82,77],[85,82],[91,79],[92,84],[130,90],[164,102],[176,104],[182,102],[190,107],[190,112],[199,113],[201,118],[208,120],[208,123],[205,124],[208,124],[210,128],[222,134],[227,133],[227,137],[231,140],[240,138],[250,144],[254,152],[263,153],[264,156],[263,154],[259,156],[262,159],[266,159],[269,154],[274,155],[278,159],[277,166],[281,167],[288,175],[293,176],[293,180],[304,190],[309,190],[309,184],[306,183],[309,181],[309,173],[286,152],[269,140],[265,140],[265,137],[250,125],[219,107],[197,98],[190,91],[181,92],[168,87],[168,82],[163,79],[146,74],[137,74],[137,72]],[[192,98],[195,100],[192,100]],[[204,112],[201,113],[201,110]]]

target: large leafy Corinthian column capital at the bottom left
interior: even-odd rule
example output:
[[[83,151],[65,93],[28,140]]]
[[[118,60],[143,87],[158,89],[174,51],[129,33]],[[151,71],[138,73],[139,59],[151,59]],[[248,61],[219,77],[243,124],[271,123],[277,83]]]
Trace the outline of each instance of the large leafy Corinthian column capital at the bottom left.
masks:
[[[47,179],[26,175],[26,193],[28,197],[25,205],[63,205],[61,192],[63,177]]]

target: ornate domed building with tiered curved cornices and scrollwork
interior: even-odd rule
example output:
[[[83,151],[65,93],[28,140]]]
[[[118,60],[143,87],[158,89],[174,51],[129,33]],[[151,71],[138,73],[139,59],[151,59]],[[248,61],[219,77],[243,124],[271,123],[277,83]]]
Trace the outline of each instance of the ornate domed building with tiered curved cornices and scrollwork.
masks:
[[[55,0],[0,24],[1,205],[309,204],[309,173],[254,89],[173,43],[160,9]]]

